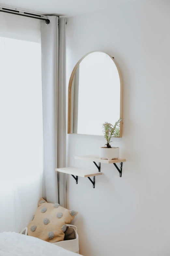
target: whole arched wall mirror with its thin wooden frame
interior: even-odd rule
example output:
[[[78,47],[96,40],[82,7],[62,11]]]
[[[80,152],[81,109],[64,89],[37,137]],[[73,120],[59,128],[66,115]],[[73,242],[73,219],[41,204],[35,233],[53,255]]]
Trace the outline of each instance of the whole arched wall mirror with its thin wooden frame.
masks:
[[[122,118],[120,70],[109,54],[91,52],[73,69],[68,88],[68,133],[103,135],[102,124]],[[122,137],[122,121],[117,137]]]

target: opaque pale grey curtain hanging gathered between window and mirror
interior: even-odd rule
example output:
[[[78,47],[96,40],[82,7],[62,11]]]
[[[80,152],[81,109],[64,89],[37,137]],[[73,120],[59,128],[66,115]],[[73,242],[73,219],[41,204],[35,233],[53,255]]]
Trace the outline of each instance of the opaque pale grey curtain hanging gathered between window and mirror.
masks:
[[[47,16],[41,22],[44,175],[43,197],[66,205],[66,177],[55,168],[66,166],[65,19]]]

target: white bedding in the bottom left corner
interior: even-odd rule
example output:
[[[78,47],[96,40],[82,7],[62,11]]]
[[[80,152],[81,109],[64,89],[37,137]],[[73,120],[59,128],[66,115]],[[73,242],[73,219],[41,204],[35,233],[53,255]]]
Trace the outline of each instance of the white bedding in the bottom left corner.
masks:
[[[15,232],[0,233],[0,256],[78,256],[33,236]]]

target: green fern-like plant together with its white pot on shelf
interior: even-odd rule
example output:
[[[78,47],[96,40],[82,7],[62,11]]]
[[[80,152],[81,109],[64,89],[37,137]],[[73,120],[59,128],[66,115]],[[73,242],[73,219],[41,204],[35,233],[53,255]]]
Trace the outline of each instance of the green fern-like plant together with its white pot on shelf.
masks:
[[[111,125],[110,123],[105,122],[102,127],[103,127],[103,133],[105,136],[105,139],[107,143],[105,144],[106,147],[101,147],[100,148],[100,159],[118,159],[119,158],[119,147],[112,147],[110,145],[111,143],[111,137],[119,137],[120,136],[120,122],[122,118],[120,118],[115,125]]]

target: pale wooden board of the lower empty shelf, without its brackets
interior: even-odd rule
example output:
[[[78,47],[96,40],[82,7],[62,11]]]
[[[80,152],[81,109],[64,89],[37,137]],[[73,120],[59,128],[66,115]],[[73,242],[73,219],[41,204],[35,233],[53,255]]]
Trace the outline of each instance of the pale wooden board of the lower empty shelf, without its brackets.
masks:
[[[65,167],[65,168],[57,168],[55,169],[58,172],[63,172],[71,175],[76,175],[79,177],[91,177],[102,175],[101,172],[95,172],[87,169],[77,168],[77,167]]]

